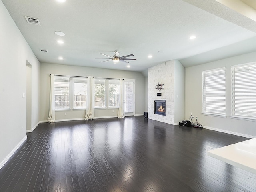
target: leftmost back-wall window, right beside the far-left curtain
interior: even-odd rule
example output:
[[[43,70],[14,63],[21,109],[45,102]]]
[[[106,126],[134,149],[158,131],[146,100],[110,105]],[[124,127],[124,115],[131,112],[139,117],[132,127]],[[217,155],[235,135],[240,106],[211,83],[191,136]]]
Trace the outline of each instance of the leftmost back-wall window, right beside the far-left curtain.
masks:
[[[69,102],[69,77],[55,76],[54,94],[55,94],[55,108],[67,109],[70,108]]]

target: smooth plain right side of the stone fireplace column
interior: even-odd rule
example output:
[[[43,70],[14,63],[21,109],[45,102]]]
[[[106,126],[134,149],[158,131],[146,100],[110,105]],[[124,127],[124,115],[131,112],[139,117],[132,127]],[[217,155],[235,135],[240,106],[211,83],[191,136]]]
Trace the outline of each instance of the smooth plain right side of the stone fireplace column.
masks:
[[[174,124],[185,120],[185,68],[174,60]]]

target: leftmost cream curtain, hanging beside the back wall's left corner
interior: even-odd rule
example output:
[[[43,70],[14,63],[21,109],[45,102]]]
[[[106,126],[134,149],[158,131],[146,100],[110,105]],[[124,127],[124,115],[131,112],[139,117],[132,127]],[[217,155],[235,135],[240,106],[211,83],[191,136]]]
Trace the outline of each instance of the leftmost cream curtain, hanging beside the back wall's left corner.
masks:
[[[50,80],[50,106],[49,106],[49,117],[47,122],[54,123],[55,122],[55,98],[54,98],[54,74],[51,75]]]

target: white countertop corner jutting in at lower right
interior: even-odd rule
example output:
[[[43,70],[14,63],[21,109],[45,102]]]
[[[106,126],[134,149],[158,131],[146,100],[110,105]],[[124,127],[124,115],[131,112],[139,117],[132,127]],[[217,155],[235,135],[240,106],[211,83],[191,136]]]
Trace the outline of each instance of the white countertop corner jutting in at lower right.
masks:
[[[256,138],[210,150],[207,154],[256,174]]]

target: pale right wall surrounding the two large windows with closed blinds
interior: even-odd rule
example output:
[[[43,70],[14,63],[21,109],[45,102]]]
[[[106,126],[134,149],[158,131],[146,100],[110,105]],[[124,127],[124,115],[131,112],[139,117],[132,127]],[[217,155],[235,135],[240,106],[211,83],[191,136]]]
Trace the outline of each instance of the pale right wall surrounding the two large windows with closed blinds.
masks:
[[[204,128],[230,134],[256,137],[256,122],[231,119],[231,66],[256,61],[256,52],[185,69],[185,116],[198,116]],[[202,71],[226,67],[226,118],[202,115]]]

